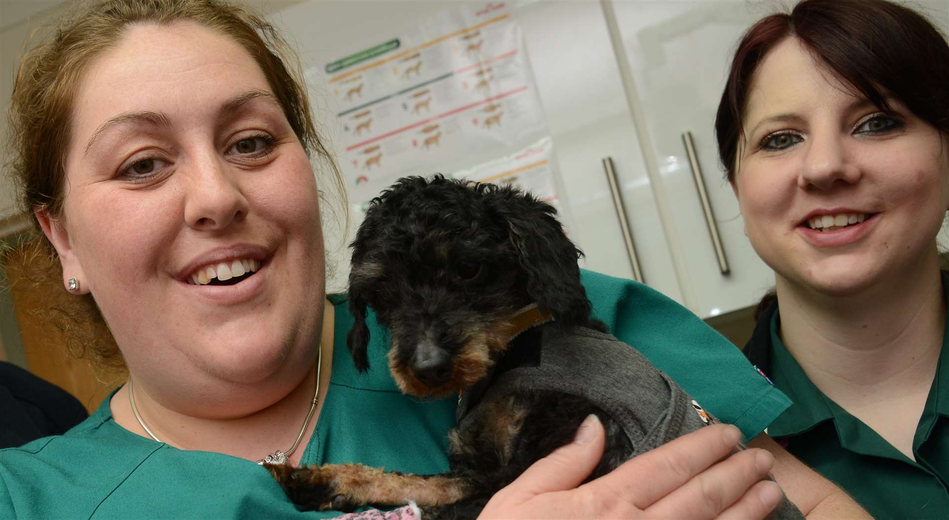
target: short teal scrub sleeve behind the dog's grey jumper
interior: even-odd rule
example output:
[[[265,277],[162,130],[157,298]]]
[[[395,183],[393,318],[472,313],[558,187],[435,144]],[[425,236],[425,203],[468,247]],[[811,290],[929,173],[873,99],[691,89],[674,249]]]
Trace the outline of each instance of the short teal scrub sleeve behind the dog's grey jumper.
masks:
[[[734,344],[687,308],[631,280],[584,270],[593,315],[636,347],[745,441],[781,415],[788,399],[754,370]]]

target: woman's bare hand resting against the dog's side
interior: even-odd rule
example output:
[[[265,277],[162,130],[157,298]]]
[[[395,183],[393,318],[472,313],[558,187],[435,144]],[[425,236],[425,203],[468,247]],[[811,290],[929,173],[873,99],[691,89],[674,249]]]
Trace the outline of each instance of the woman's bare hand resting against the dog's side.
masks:
[[[734,426],[702,428],[580,485],[604,449],[603,425],[590,416],[571,444],[497,492],[480,518],[764,518],[781,499],[777,484],[761,480],[774,458],[765,450],[728,456],[739,437]]]

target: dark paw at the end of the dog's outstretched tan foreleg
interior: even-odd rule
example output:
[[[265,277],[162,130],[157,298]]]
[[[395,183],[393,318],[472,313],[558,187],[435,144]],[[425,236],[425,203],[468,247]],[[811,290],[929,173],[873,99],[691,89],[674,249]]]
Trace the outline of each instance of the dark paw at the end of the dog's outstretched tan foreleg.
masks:
[[[264,467],[284,489],[291,502],[307,509],[348,512],[364,505],[341,492],[337,472],[331,468],[294,468],[285,464],[265,464]]]

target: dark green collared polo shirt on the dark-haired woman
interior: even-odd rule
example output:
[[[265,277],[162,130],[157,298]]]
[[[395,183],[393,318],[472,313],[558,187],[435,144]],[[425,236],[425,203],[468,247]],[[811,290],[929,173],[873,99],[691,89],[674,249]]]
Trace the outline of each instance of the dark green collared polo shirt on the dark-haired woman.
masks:
[[[943,273],[943,288],[947,280]],[[768,375],[794,403],[772,422],[768,434],[787,443],[792,455],[840,485],[875,518],[949,518],[949,334],[943,332],[936,378],[916,427],[914,462],[810,382],[781,342],[779,326],[775,312]]]

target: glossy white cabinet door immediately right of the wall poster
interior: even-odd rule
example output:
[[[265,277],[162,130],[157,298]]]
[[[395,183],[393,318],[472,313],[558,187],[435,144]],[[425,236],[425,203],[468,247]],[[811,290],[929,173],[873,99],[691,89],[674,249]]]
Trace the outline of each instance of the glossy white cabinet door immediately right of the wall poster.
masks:
[[[633,274],[604,170],[603,159],[612,158],[644,281],[681,302],[603,9],[598,2],[514,5],[586,269]]]

